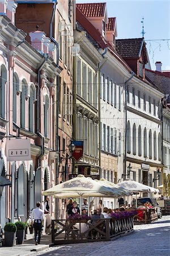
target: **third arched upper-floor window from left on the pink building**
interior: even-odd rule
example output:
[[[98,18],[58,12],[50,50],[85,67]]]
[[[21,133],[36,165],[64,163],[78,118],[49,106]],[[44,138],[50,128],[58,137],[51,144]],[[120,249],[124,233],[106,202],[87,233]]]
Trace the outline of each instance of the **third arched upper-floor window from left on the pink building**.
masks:
[[[20,93],[20,126],[25,129],[25,96],[27,81],[22,81],[22,92]]]

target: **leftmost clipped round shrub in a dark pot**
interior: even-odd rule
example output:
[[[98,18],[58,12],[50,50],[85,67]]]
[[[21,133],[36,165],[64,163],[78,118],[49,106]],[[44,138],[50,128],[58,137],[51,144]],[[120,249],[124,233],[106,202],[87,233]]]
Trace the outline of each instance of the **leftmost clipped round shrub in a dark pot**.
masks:
[[[16,238],[16,225],[14,223],[7,223],[4,227],[5,230],[5,245],[14,246]]]

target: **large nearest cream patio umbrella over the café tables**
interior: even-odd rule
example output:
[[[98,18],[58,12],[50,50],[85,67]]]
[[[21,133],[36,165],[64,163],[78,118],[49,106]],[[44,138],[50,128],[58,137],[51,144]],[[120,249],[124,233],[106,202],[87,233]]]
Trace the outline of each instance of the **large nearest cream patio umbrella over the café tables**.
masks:
[[[64,197],[119,197],[120,191],[117,188],[112,188],[101,184],[91,178],[84,177],[84,175],[78,175],[77,177],[67,180],[61,184],[49,188],[42,192],[42,195],[52,196],[58,198]],[[81,210],[80,204],[80,210]]]

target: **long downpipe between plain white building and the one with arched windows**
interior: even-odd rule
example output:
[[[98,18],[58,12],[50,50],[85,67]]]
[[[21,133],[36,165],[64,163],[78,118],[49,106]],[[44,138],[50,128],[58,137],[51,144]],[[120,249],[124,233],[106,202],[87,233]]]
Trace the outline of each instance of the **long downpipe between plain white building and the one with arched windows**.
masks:
[[[127,155],[127,84],[133,79],[134,72],[131,71],[131,77],[125,81],[125,156],[124,156],[124,175],[126,175],[126,155]],[[126,176],[124,176],[126,179]],[[124,180],[125,180],[124,179]]]

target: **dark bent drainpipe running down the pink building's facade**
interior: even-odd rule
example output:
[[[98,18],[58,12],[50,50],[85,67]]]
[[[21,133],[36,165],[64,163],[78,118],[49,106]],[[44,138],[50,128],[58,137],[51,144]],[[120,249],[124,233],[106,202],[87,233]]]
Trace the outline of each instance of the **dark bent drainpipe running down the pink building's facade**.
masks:
[[[44,155],[44,136],[40,133],[41,131],[41,108],[40,108],[40,90],[41,90],[41,70],[44,67],[46,61],[49,59],[48,53],[44,53],[45,60],[41,64],[41,66],[38,69],[38,89],[37,89],[37,134],[41,138],[41,154],[38,158],[38,167],[40,166],[40,159],[42,158],[42,155]]]

